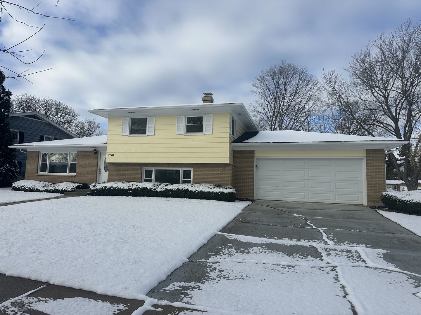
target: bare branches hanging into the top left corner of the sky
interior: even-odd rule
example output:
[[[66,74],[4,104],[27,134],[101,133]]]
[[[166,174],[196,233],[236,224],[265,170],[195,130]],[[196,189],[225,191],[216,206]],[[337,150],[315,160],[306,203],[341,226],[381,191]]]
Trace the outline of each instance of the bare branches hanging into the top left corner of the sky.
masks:
[[[56,6],[57,6],[58,3],[59,3],[59,1],[57,1]],[[36,55],[36,56],[32,57],[32,59],[29,59],[27,54],[32,49],[20,48],[23,43],[25,43],[31,37],[35,36],[38,32],[40,32],[40,30],[43,29],[45,24],[43,24],[42,26],[35,26],[35,25],[30,24],[27,21],[21,20],[20,18],[17,17],[18,14],[16,13],[17,12],[16,10],[24,11],[24,12],[28,13],[29,15],[39,16],[39,17],[43,17],[43,18],[60,18],[60,19],[64,19],[64,20],[70,20],[69,18],[49,16],[47,14],[40,13],[39,11],[36,10],[38,5],[40,5],[40,3],[35,5],[35,7],[32,7],[32,6],[29,6],[29,5],[28,6],[22,5],[21,2],[17,2],[17,1],[13,1],[13,0],[0,0],[0,23],[3,21],[4,16],[7,16],[7,17],[9,17],[9,19],[11,21],[14,21],[14,22],[20,23],[20,24],[24,24],[24,25],[26,25],[30,28],[38,29],[36,32],[32,33],[32,35],[30,35],[29,37],[23,37],[19,40],[16,40],[16,43],[13,43],[10,47],[3,46],[3,48],[0,48],[0,53],[5,53],[6,55],[12,57],[14,60],[19,61],[19,63],[21,63],[21,64],[30,65],[32,63],[35,63],[35,61],[40,59],[42,57],[42,55],[45,53],[45,50],[44,50],[43,53],[41,53],[40,55]],[[72,20],[70,20],[70,21],[72,21]],[[25,60],[26,58],[28,58],[28,60]],[[20,72],[16,72],[17,70],[15,71],[15,70],[12,70],[10,68],[7,68],[4,64],[0,65],[0,67],[5,69],[6,71],[8,71],[9,74],[8,74],[8,76],[6,76],[6,78],[9,78],[9,79],[23,78],[27,81],[29,81],[29,80],[26,78],[26,76],[29,76],[29,75],[35,74],[35,73],[39,73],[39,72],[43,72],[43,71],[47,71],[47,70],[51,69],[51,68],[50,69],[44,69],[44,70],[41,70],[41,71],[35,71],[35,72],[32,72],[32,73],[28,73],[29,69],[24,70],[24,71],[20,71]]]

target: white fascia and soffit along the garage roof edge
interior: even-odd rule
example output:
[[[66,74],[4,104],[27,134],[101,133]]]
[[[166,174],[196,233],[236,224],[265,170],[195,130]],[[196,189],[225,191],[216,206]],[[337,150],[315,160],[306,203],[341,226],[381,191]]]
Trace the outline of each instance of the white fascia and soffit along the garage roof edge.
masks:
[[[284,142],[284,143],[231,143],[233,150],[358,150],[384,149],[407,144],[408,141],[344,141],[344,142]]]

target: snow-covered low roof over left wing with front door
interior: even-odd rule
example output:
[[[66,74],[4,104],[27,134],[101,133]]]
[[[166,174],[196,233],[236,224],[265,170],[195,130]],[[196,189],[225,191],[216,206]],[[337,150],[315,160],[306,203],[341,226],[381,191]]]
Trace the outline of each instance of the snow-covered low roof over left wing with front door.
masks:
[[[63,148],[63,147],[75,147],[75,148],[94,148],[94,147],[107,147],[107,135],[104,136],[92,136],[84,138],[74,139],[63,139],[53,141],[41,141],[41,142],[29,142],[21,144],[13,144],[9,146],[15,149],[41,149],[41,148]]]

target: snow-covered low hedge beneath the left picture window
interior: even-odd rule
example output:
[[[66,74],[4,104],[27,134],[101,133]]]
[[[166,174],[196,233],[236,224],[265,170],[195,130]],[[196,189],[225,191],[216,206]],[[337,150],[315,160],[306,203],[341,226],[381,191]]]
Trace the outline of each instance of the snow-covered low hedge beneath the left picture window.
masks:
[[[77,188],[89,188],[88,184],[74,183],[65,181],[63,183],[51,184],[46,181],[30,181],[23,179],[12,184],[12,189],[20,192],[53,192],[62,194],[64,192],[72,192]]]

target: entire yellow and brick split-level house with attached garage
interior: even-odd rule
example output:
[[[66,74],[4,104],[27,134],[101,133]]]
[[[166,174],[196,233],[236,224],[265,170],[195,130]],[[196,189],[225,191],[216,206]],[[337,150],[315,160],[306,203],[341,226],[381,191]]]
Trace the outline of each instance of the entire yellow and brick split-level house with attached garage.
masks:
[[[108,134],[15,144],[27,179],[233,186],[249,199],[381,205],[385,151],[401,139],[258,131],[240,102],[90,110]]]

